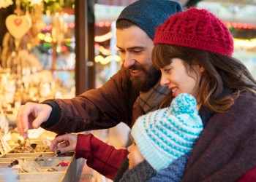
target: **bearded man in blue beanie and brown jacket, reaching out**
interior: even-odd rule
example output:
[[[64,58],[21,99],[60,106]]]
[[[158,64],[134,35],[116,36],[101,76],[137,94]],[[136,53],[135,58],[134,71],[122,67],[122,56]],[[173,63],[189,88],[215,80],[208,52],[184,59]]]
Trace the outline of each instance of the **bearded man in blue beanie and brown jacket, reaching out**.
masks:
[[[167,88],[159,85],[160,72],[151,63],[154,30],[179,11],[181,5],[168,0],[140,0],[126,7],[116,22],[121,70],[99,89],[75,98],[21,106],[20,134],[27,138],[28,130],[38,127],[56,133],[105,129],[120,122],[132,127],[138,116],[156,110]]]

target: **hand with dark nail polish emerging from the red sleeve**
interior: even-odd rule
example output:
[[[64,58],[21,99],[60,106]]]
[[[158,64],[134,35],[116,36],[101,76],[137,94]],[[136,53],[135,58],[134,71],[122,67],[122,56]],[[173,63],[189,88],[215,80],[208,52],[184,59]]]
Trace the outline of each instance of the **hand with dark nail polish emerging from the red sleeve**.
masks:
[[[78,135],[64,134],[58,135],[50,144],[50,151],[54,151],[56,154],[64,154],[69,151],[75,151],[77,145]]]

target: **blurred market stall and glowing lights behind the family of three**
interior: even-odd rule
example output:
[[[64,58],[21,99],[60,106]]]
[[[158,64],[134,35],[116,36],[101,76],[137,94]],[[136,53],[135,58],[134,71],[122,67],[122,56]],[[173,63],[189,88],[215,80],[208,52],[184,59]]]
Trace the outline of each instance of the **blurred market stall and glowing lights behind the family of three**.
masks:
[[[5,138],[20,105],[72,98],[101,87],[121,66],[115,20],[135,0],[0,0],[0,126]],[[234,57],[256,78],[256,0],[181,0],[206,8],[235,39]],[[116,148],[129,128],[91,131]],[[95,175],[94,181],[107,181]]]

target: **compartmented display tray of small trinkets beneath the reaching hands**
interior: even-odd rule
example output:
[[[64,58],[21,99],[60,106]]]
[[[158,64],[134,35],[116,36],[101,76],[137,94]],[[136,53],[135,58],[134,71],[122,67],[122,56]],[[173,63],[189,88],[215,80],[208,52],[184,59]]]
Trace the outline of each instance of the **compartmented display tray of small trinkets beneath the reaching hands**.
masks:
[[[0,181],[79,181],[80,162],[74,152],[56,156],[47,149],[33,153],[12,151],[0,157]]]

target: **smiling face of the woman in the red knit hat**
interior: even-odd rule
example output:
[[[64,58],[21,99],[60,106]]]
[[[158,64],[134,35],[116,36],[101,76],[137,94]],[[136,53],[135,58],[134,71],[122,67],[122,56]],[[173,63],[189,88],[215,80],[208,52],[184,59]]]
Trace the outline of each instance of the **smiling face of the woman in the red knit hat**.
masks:
[[[184,64],[183,60],[173,58],[170,65],[160,69],[162,72],[160,84],[167,86],[168,90],[173,93],[173,97],[181,93],[189,93],[198,98],[199,82],[205,69],[202,66],[194,65],[192,68],[195,71],[191,69],[187,71]]]

